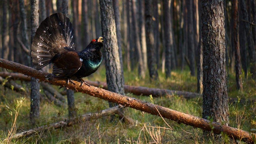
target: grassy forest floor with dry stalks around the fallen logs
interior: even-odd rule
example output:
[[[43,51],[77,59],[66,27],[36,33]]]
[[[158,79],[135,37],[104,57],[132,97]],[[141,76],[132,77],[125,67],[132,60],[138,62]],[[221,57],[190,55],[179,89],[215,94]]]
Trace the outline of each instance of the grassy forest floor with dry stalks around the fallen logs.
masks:
[[[86,78],[91,81],[106,81],[105,68],[101,66],[92,76]],[[17,81],[18,83],[19,81]],[[229,103],[230,126],[250,132],[256,132],[256,83],[250,76],[243,79],[244,92],[236,90],[234,73],[228,75],[228,96],[238,100]],[[20,82],[19,82],[20,83]],[[148,75],[143,80],[135,72],[125,71],[125,84],[132,86],[145,86],[152,88],[165,88],[196,92],[196,77],[190,76],[188,68],[184,71],[172,71],[172,77],[166,79],[159,71],[159,81],[150,82]],[[24,88],[30,87],[25,82]],[[57,89],[57,87],[56,87]],[[62,90],[62,89],[61,89]],[[60,90],[60,91],[61,91]],[[15,104],[20,97],[25,97],[17,117],[17,132],[28,130],[36,126],[47,125],[67,119],[67,107],[58,107],[53,103],[41,101],[40,118],[36,126],[29,120],[30,98],[29,94],[17,93],[11,89],[0,86],[0,143],[7,137],[8,129],[12,127],[15,114]],[[202,98],[185,99],[177,95],[151,99],[150,96],[135,97],[154,104],[174,109],[183,113],[202,117]],[[241,100],[239,100],[241,99]],[[250,103],[254,100],[254,103]],[[87,94],[75,93],[77,114],[83,115],[108,108],[108,102]],[[12,112],[12,115],[10,115]],[[125,114],[136,121],[135,125],[128,125],[119,121],[115,115],[113,121],[110,116],[89,121],[79,122],[73,126],[61,129],[49,129],[34,136],[13,139],[12,143],[232,143],[225,134],[221,137],[205,137],[198,128],[178,124],[177,122],[161,117],[126,108]],[[168,126],[168,125],[169,126]]]

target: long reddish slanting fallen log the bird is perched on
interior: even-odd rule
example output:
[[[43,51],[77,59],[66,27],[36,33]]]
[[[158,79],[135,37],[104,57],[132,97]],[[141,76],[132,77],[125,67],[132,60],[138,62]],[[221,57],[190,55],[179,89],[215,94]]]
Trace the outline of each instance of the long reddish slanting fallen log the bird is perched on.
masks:
[[[2,58],[0,58],[0,67],[23,73],[27,76],[35,77],[37,79],[40,79],[41,81],[46,81],[57,86],[64,86],[77,92],[86,93],[93,97],[101,98],[109,102],[119,103],[124,106],[129,106],[130,108],[145,111],[152,115],[161,115],[163,118],[167,118],[178,123],[197,127],[206,131],[213,131],[215,134],[220,134],[221,132],[223,132],[232,139],[239,139],[249,143],[254,143],[256,139],[256,134],[254,133],[222,125],[217,122],[211,122],[207,119],[202,119],[190,114],[185,114],[176,110],[165,108],[163,106],[144,102],[136,98],[131,98],[125,95],[110,92],[102,88],[87,86],[86,84],[81,86],[81,83],[77,81],[74,81],[74,84],[67,84],[65,79],[56,78],[51,73],[38,71],[34,68],[24,66],[22,64],[12,61],[4,60]]]

